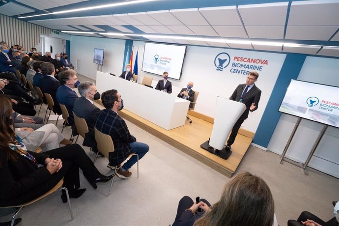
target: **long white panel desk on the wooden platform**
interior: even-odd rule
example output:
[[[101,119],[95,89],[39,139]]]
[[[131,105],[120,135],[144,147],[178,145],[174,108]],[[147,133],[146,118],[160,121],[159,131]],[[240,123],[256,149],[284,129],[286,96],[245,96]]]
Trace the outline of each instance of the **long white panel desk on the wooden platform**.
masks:
[[[124,109],[166,130],[185,124],[188,100],[100,71],[96,74],[96,87],[100,93],[116,89],[124,101]]]

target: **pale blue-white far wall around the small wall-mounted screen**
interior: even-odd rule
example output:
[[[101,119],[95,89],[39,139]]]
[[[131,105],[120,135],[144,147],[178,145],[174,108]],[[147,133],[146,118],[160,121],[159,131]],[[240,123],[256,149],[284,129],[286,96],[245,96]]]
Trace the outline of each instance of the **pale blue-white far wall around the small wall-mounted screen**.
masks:
[[[97,64],[93,63],[94,48],[104,49],[103,72],[119,76],[123,65],[125,40],[71,36],[71,63],[79,73],[93,80],[96,79]]]

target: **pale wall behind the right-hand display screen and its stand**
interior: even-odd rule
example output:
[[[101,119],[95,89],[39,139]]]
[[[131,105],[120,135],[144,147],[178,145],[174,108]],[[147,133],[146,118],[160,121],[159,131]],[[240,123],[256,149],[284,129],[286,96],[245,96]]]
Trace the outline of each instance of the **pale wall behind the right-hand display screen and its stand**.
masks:
[[[339,86],[339,59],[306,57],[298,80]],[[296,116],[282,114],[267,150],[281,154],[296,121]],[[320,123],[302,119],[285,156],[304,163],[322,128]],[[339,128],[328,127],[309,166],[339,178]]]

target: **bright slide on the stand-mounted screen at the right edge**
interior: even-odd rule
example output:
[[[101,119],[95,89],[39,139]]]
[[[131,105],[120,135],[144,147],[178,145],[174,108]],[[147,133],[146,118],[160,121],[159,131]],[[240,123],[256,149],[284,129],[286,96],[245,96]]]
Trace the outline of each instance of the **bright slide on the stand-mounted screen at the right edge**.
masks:
[[[279,112],[339,128],[339,87],[291,80]]]

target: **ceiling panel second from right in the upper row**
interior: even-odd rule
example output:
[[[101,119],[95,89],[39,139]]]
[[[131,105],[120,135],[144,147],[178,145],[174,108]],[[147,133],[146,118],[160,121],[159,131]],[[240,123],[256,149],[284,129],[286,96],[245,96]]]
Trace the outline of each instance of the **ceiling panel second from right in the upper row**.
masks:
[[[244,25],[285,25],[288,2],[239,5]],[[255,15],[255,16],[254,16]]]

